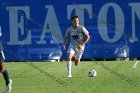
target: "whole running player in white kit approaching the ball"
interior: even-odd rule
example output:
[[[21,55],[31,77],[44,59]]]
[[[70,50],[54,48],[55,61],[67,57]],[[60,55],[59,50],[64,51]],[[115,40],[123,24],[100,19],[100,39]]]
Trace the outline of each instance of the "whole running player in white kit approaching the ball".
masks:
[[[66,50],[66,44],[70,38],[70,45],[67,51],[67,70],[68,76],[71,75],[72,57],[75,57],[75,65],[80,63],[85,44],[90,39],[89,32],[84,26],[79,24],[79,18],[77,15],[72,16],[72,26],[67,29],[66,35],[64,37],[64,44],[62,46],[63,50]]]

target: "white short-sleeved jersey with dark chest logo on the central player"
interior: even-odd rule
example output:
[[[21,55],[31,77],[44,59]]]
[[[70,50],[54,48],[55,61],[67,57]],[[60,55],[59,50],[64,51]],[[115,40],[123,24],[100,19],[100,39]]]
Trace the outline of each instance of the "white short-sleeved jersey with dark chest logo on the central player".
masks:
[[[70,46],[78,47],[79,44],[82,44],[85,39],[85,34],[89,32],[84,26],[79,25],[77,28],[73,28],[72,26],[67,30],[70,33]]]

